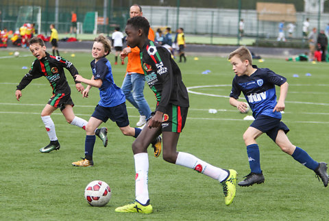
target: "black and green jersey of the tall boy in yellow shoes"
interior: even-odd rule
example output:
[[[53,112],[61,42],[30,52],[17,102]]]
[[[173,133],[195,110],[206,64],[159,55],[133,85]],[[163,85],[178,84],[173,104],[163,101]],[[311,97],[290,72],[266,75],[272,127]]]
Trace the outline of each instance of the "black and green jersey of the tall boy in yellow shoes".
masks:
[[[180,68],[167,49],[148,40],[141,49],[141,64],[147,84],[156,94],[156,111],[165,112],[169,104],[189,106]]]

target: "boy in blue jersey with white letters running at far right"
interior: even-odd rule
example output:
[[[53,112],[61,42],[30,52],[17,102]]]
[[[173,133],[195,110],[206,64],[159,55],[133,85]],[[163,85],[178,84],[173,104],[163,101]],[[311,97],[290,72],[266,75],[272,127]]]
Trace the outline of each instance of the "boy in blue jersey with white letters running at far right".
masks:
[[[280,112],[284,110],[284,101],[288,92],[287,79],[273,73],[269,68],[258,68],[252,65],[252,55],[245,47],[240,47],[230,53],[228,59],[236,74],[232,82],[230,104],[237,107],[240,112],[245,112],[247,104],[237,101],[243,92],[255,118],[243,134],[251,172],[238,185],[244,187],[254,183],[264,183],[265,178],[260,169],[260,153],[256,138],[267,133],[284,153],[288,153],[300,164],[313,170],[326,187],[328,185],[327,164],[318,163],[312,159],[302,148],[291,144],[286,135],[289,128],[281,121]],[[278,102],[275,86],[280,86]]]

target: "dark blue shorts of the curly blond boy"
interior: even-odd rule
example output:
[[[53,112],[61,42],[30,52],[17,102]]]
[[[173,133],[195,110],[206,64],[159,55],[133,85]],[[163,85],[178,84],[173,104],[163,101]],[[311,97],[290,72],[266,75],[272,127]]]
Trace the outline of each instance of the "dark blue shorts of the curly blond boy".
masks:
[[[103,122],[108,121],[108,118],[110,118],[113,122],[117,123],[118,127],[127,127],[129,125],[125,102],[114,107],[103,107],[97,105],[92,117],[97,118]]]

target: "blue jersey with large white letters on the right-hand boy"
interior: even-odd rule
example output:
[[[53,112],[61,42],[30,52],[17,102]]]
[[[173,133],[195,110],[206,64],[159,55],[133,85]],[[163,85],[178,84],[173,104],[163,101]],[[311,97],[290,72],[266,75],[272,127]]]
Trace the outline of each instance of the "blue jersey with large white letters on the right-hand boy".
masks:
[[[257,68],[256,65],[252,67]],[[281,118],[280,112],[273,112],[276,107],[276,85],[282,86],[286,81],[286,78],[273,73],[269,68],[257,68],[250,76],[234,77],[230,97],[239,99],[242,91],[254,118],[260,114]]]

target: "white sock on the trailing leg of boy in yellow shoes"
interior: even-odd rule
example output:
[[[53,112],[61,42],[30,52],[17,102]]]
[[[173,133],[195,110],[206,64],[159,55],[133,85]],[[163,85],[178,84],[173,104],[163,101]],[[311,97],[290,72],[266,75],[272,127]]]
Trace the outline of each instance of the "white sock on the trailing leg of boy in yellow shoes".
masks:
[[[212,166],[189,153],[178,153],[175,164],[201,172],[202,174],[205,174],[212,179],[217,179],[220,182],[228,177],[228,172],[226,170]]]

